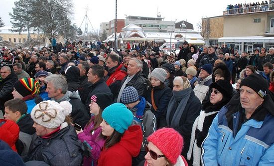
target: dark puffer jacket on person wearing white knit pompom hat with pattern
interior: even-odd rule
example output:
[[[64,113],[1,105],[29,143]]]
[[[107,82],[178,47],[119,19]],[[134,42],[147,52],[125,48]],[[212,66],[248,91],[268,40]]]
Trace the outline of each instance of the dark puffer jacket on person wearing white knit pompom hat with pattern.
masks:
[[[27,161],[43,161],[50,166],[80,166],[83,159],[81,147],[75,129],[69,125],[48,139],[35,134]]]

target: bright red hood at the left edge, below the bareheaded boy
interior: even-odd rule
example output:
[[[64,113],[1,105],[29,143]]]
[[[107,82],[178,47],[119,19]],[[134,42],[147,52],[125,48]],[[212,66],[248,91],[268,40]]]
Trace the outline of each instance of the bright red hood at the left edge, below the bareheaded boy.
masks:
[[[17,152],[15,143],[19,138],[18,125],[11,120],[0,119],[0,133],[0,140],[7,143],[13,151]]]

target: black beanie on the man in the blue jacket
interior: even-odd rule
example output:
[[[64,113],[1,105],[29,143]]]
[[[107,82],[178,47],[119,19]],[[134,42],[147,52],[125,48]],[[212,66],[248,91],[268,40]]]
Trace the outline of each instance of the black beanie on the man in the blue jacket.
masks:
[[[263,99],[267,96],[269,83],[263,76],[257,73],[251,74],[248,77],[244,78],[241,81],[240,88],[243,85],[253,89]]]

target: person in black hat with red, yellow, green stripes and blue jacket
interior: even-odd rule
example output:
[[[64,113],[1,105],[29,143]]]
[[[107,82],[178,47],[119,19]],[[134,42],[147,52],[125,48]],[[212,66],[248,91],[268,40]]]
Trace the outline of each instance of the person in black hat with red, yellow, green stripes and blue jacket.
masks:
[[[40,92],[40,84],[33,78],[22,78],[14,83],[12,91],[13,98],[25,101],[27,105],[27,113],[29,114],[32,108],[43,101],[38,95]]]

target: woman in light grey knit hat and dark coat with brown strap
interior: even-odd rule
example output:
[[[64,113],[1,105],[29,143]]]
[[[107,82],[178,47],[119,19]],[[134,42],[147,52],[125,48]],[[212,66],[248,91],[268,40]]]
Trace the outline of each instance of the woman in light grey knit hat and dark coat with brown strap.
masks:
[[[167,72],[155,68],[150,75],[151,85],[148,87],[146,101],[152,105],[151,112],[157,118],[157,129],[166,126],[166,109],[172,97],[172,91],[164,84]]]

